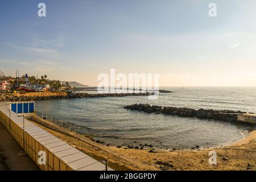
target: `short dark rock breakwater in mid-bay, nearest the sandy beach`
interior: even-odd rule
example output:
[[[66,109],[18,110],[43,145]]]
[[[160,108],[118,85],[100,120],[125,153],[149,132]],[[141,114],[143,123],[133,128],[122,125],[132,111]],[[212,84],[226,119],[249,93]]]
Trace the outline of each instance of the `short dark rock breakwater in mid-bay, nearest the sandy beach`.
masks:
[[[145,113],[170,114],[180,117],[196,117],[200,119],[215,119],[221,121],[236,122],[237,114],[245,113],[232,110],[213,110],[213,109],[190,109],[187,107],[163,107],[148,104],[134,104],[125,106],[125,109],[144,111]]]

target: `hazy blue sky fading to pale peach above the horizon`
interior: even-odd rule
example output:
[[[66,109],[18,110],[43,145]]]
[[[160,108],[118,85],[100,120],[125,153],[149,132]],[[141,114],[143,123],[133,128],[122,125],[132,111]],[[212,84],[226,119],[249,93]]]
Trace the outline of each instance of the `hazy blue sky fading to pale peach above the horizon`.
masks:
[[[110,68],[158,73],[160,86],[255,86],[255,20],[255,0],[1,0],[0,70],[90,86]]]

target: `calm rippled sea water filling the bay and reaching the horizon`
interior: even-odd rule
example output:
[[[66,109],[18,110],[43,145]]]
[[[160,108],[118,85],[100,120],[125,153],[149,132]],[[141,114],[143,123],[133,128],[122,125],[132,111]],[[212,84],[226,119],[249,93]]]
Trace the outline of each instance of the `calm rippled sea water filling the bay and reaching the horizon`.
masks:
[[[256,112],[256,88],[166,87],[158,100],[148,97],[77,98],[36,101],[39,113],[72,122],[80,133],[91,134],[106,144],[118,146],[134,143],[158,148],[221,146],[247,135],[251,126],[229,122],[181,118],[164,114],[147,114],[126,110],[123,106],[143,103],[193,109],[229,109]]]

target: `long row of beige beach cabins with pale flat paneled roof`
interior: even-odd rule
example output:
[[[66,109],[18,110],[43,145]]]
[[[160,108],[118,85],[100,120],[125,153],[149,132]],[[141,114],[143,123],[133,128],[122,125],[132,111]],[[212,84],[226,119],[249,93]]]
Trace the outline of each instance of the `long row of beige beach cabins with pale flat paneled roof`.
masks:
[[[0,122],[42,171],[113,170],[10,111],[9,102],[0,102]]]

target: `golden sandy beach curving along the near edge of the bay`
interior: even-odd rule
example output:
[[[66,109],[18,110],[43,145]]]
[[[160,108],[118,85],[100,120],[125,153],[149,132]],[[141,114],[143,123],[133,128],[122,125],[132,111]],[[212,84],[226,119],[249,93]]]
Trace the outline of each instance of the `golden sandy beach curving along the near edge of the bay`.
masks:
[[[51,123],[43,120],[44,126]],[[38,123],[35,123],[38,125]],[[117,148],[94,142],[90,137],[72,133],[65,135],[52,127],[38,125],[49,133],[71,144],[98,160],[108,160],[115,170],[256,170],[256,131],[229,146],[199,150],[148,150]],[[59,129],[59,128],[58,128]],[[209,164],[209,151],[216,151],[217,164]]]

